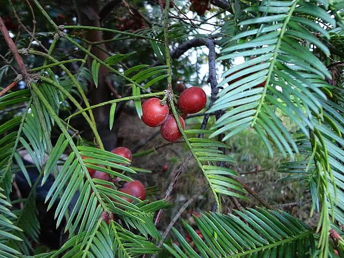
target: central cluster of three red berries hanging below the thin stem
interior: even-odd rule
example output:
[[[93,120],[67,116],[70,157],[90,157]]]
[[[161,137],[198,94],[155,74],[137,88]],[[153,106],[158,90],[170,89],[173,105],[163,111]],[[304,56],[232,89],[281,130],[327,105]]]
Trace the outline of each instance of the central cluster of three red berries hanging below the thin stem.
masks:
[[[184,118],[187,114],[201,111],[206,104],[205,92],[199,87],[191,87],[181,92],[178,99],[178,116],[182,128],[185,128]],[[168,141],[177,141],[181,137],[174,116],[169,112],[167,104],[162,105],[160,99],[151,98],[142,104],[142,121],[149,127],[159,127],[161,135]]]

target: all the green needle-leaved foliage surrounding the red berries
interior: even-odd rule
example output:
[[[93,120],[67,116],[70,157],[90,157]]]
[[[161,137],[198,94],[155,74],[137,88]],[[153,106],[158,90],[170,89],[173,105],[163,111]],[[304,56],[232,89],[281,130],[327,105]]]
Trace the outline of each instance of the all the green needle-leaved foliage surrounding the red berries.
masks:
[[[199,29],[199,24],[207,24],[209,19],[205,17],[199,17],[196,20],[199,24],[195,25],[192,20],[185,22],[188,19],[179,11],[177,19],[173,19],[172,11],[175,13],[176,8],[170,9],[169,0],[162,12],[156,6],[159,14],[154,23],[136,31],[121,31],[113,24],[110,28],[59,25],[43,1],[30,2],[39,20],[48,24],[42,31],[36,31],[36,36],[42,42],[49,42],[49,49],[40,51],[31,45],[32,41],[25,51],[20,49],[21,54],[29,55],[25,61],[31,75],[35,73],[34,78],[22,81],[19,90],[0,97],[1,110],[21,107],[7,117],[1,114],[0,257],[32,255],[32,243],[38,242],[40,232],[36,188],[44,185],[49,177],[54,178],[54,183],[45,202],[48,210],[55,207],[56,226],[65,222],[68,240],[59,250],[34,257],[141,257],[157,255],[162,249],[178,258],[326,258],[334,257],[335,251],[344,256],[343,239],[330,238],[330,230],[341,233],[337,226],[344,224],[343,71],[337,69],[344,60],[343,1],[230,0],[228,9],[211,10],[220,24],[214,26],[214,31]],[[216,6],[223,1],[210,2]],[[174,4],[179,6],[178,1]],[[144,8],[140,4],[137,7]],[[88,47],[90,42],[78,35],[99,30],[113,36],[109,42],[147,41],[150,54],[157,62],[138,65],[132,61],[138,60],[137,51],[128,49],[105,60],[99,58]],[[16,41],[16,47],[26,46],[26,40]],[[57,49],[59,43],[72,46],[84,58],[65,60]],[[170,51],[171,45],[176,49]],[[216,59],[214,45],[219,49]],[[211,101],[204,121],[209,116],[213,119],[206,127],[185,130],[176,121],[212,192],[217,210],[194,216],[202,237],[182,221],[193,245],[172,228],[176,242],[165,241],[161,247],[157,243],[162,235],[154,218],[169,203],[135,197],[131,197],[132,203],[125,201],[121,196],[129,196],[118,191],[115,184],[92,179],[88,173],[87,168],[91,168],[132,181],[135,174],[150,172],[133,167],[130,160],[104,149],[93,111],[109,105],[112,129],[116,127],[114,117],[121,103],[133,101],[141,118],[141,99],[160,96],[177,118],[171,90],[172,75],[178,74],[178,69],[173,59],[180,57],[178,51],[184,53],[199,46],[209,50]],[[237,57],[245,61],[231,65]],[[91,60],[89,69],[85,66],[87,60]],[[129,66],[123,65],[124,61]],[[72,63],[76,64],[76,70],[72,69]],[[219,83],[215,66],[224,68]],[[8,63],[0,68],[1,82],[11,67]],[[88,84],[99,87],[102,67],[129,89],[128,95],[91,106],[85,92]],[[185,65],[185,73],[195,73],[187,69]],[[57,75],[56,71],[62,73]],[[77,110],[72,114],[71,105]],[[68,116],[61,115],[66,112]],[[80,114],[94,134],[95,144],[82,139],[70,127],[70,119]],[[288,118],[294,129],[288,128],[282,117]],[[283,163],[279,172],[289,173],[284,180],[302,180],[307,184],[313,201],[311,214],[320,214],[317,228],[271,208],[221,213],[223,197],[247,199],[247,189],[238,179],[238,173],[226,167],[234,162],[227,154],[226,141],[245,129],[259,135],[271,156],[279,152],[291,157],[292,161]],[[52,141],[53,130],[59,133],[56,141]],[[20,149],[28,152],[39,171],[34,182],[18,154]],[[66,158],[61,160],[63,154]],[[16,209],[10,193],[12,176],[19,170],[31,190],[26,199],[20,200],[23,206]],[[106,223],[104,214],[113,214],[117,219]]]

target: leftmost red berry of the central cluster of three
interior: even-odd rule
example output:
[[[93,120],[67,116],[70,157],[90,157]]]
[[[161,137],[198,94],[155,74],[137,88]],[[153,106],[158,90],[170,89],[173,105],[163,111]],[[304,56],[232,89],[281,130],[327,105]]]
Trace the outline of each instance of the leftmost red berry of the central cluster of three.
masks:
[[[161,105],[158,98],[151,98],[142,104],[142,121],[149,127],[162,125],[168,115],[169,106]]]

